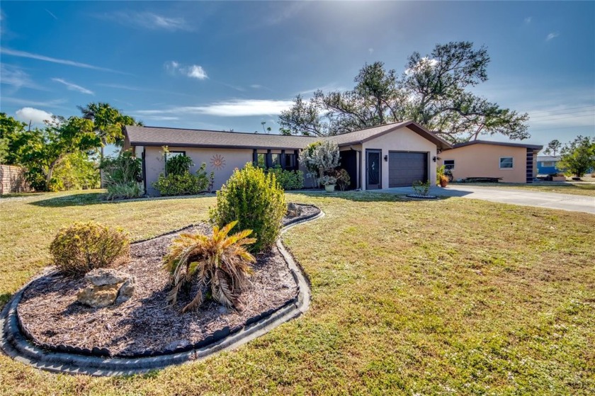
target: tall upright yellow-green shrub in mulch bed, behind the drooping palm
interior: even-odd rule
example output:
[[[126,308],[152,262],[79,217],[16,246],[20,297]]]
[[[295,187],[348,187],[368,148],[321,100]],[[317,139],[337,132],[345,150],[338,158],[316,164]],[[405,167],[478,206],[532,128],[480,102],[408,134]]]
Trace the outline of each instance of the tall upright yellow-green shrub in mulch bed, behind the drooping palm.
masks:
[[[217,191],[217,207],[211,208],[210,220],[219,227],[237,220],[240,230],[253,230],[256,243],[250,250],[254,252],[275,243],[285,212],[285,194],[275,174],[265,174],[248,163]]]

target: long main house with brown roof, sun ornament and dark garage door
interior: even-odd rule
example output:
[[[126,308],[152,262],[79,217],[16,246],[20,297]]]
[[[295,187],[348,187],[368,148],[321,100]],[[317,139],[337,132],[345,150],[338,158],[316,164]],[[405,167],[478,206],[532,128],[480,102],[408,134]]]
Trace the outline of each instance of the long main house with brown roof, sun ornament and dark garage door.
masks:
[[[203,162],[207,164],[207,171],[215,172],[214,188],[218,190],[235,168],[241,169],[247,162],[305,171],[298,161],[300,150],[319,140],[331,140],[339,145],[341,167],[351,176],[351,188],[363,190],[435,180],[436,153],[451,147],[412,121],[329,137],[125,127],[125,149],[132,148],[142,159],[145,191],[149,195],[158,194],[152,183],[164,172],[163,146],[168,147],[169,156],[183,153],[191,157],[195,164],[192,171]],[[312,181],[307,179],[306,186],[311,187]]]

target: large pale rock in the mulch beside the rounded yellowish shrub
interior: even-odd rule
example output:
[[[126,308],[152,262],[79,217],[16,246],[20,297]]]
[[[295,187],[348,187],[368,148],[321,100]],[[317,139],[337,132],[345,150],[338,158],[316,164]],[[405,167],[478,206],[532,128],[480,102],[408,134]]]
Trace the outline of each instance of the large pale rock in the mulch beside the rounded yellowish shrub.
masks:
[[[129,300],[135,292],[135,277],[115,269],[89,271],[85,279],[91,283],[77,293],[77,301],[93,308],[103,308]]]

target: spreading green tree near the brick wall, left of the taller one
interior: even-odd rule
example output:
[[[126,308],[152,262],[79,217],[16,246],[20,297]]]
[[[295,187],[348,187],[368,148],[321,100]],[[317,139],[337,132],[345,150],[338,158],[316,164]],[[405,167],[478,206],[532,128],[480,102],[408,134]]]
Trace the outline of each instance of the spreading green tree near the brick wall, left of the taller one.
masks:
[[[23,131],[15,141],[18,163],[36,190],[52,187],[53,172],[69,154],[96,149],[101,144],[90,120],[53,116],[43,129]]]

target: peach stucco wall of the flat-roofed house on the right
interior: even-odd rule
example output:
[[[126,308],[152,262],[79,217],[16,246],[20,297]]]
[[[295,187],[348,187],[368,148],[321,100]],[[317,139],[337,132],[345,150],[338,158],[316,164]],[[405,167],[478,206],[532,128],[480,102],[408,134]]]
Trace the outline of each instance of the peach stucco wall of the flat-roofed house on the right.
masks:
[[[525,147],[477,144],[442,152],[438,164],[444,164],[446,159],[454,159],[455,180],[466,177],[502,177],[504,183],[526,183],[526,156]],[[513,168],[500,169],[500,157],[513,157]]]

